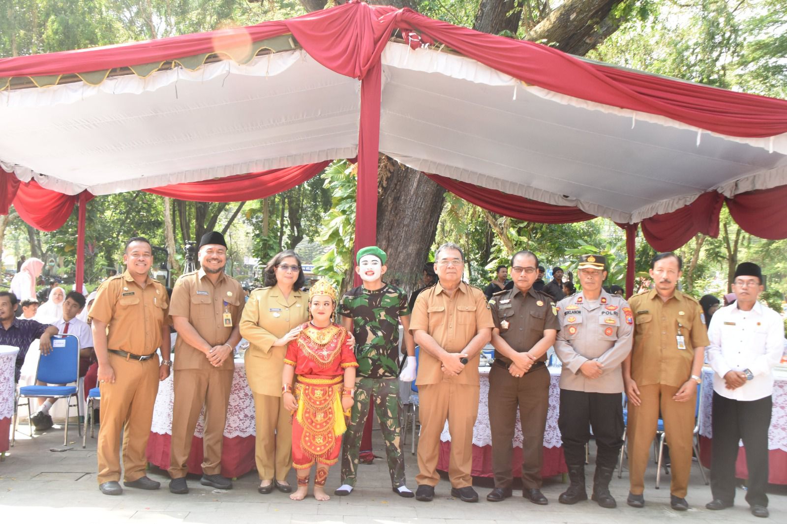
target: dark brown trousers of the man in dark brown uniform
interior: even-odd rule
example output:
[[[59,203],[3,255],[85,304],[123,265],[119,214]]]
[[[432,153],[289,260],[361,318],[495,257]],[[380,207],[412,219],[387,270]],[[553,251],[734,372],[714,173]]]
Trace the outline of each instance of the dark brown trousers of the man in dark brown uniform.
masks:
[[[522,484],[525,489],[541,489],[544,464],[544,430],[549,411],[549,369],[541,366],[523,377],[512,377],[504,367],[490,370],[490,429],[492,430],[492,470],[496,488],[511,488],[513,474],[512,441],[519,408],[522,426]]]

